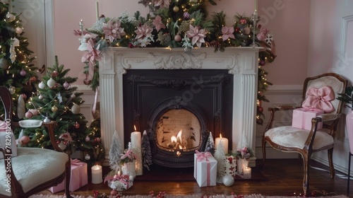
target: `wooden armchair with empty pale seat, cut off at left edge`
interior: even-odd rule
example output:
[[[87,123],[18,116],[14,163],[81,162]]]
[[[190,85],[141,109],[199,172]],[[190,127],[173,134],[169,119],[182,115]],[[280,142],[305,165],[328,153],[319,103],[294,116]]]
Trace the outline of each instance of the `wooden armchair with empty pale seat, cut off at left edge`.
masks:
[[[11,93],[5,87],[0,87],[0,105],[4,106],[6,126],[10,126],[12,130],[28,125],[47,127],[51,143],[56,150],[18,147],[17,156],[12,157],[10,146],[0,147],[0,151],[4,154],[4,159],[0,159],[0,197],[30,197],[60,184],[64,179],[65,193],[67,197],[71,197],[68,190],[71,174],[70,158],[55,142],[56,122],[42,123],[37,120],[12,122],[13,103]],[[6,132],[10,131],[7,127]]]

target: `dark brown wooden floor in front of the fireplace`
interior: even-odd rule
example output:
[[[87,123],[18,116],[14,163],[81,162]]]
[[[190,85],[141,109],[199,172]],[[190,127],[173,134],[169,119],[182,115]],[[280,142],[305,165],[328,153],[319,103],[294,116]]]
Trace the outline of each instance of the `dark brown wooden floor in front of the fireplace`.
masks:
[[[260,164],[259,161],[256,164]],[[320,163],[312,162],[312,167],[328,167]],[[330,173],[323,170],[310,168],[310,190],[311,192],[321,192],[323,194],[340,195],[347,194],[347,179],[341,179],[338,175],[344,175],[336,171],[334,179],[330,178]],[[261,180],[236,180],[232,187],[226,187],[217,184],[213,187],[198,187],[196,181],[175,181],[175,182],[157,182],[157,181],[135,181],[133,186],[122,192],[124,195],[131,194],[149,194],[151,190],[155,193],[165,192],[167,194],[263,194],[263,195],[301,195],[303,180],[303,165],[300,159],[286,159],[266,161],[263,170],[258,170],[263,175]],[[138,176],[137,176],[138,177]],[[350,182],[351,194],[353,197],[353,180]],[[72,194],[92,195],[92,190],[100,193],[109,194],[111,189],[106,184],[92,185],[89,183]],[[51,194],[49,191],[43,191],[42,194]],[[56,194],[63,194],[59,192]]]

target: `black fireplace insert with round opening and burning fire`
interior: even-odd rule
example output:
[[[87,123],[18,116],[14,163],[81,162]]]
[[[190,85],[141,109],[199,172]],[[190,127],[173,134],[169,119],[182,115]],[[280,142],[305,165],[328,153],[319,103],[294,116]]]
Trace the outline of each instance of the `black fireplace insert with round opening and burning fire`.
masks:
[[[152,162],[193,166],[209,134],[232,139],[233,76],[226,69],[130,69],[123,76],[124,144],[146,130]]]

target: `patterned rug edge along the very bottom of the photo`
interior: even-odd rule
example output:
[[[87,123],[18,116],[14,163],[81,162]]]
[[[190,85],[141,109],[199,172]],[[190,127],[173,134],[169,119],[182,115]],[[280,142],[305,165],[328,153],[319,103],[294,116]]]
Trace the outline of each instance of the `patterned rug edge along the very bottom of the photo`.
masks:
[[[92,196],[82,196],[82,195],[71,195],[74,198],[94,198]],[[325,198],[349,198],[345,195],[337,195],[337,196],[325,196]],[[66,198],[66,196],[62,195],[43,195],[43,194],[36,194],[32,195],[30,198]],[[105,197],[104,197],[105,198]],[[107,197],[108,198],[108,197]],[[117,198],[115,196],[110,196],[109,198]],[[121,196],[119,198],[156,198],[152,197],[151,195],[126,195]],[[218,195],[204,195],[204,194],[190,194],[190,195],[176,195],[176,194],[164,194],[164,197],[160,198],[303,198],[299,196],[294,197],[287,197],[287,196],[263,196],[261,194],[250,194],[250,195],[225,195],[225,194],[218,194]],[[316,197],[320,198],[320,197]]]

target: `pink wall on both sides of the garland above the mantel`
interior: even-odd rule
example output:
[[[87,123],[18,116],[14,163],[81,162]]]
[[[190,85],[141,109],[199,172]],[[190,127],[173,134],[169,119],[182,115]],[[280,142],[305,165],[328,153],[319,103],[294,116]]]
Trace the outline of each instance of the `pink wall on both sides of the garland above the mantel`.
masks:
[[[124,2],[124,3],[123,3]],[[145,16],[148,9],[138,0],[99,0],[100,13],[107,17],[119,16],[127,11],[139,10]],[[213,11],[225,11],[227,23],[232,24],[234,15],[245,13],[250,16],[254,11],[254,1],[222,0],[217,6],[210,6]],[[124,6],[121,6],[124,5]],[[80,8],[80,9],[78,9]],[[265,66],[269,71],[268,80],[276,85],[301,84],[306,77],[309,42],[309,11],[307,0],[267,0],[258,1],[258,13],[263,18],[263,25],[275,36],[277,59]],[[80,19],[85,28],[95,22],[95,0],[61,0],[54,1],[55,53],[59,62],[71,69],[71,76],[78,76],[78,84],[83,84],[83,63],[80,62],[83,52],[78,51],[78,37],[73,30],[79,29]]]

